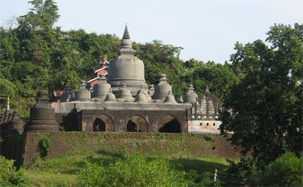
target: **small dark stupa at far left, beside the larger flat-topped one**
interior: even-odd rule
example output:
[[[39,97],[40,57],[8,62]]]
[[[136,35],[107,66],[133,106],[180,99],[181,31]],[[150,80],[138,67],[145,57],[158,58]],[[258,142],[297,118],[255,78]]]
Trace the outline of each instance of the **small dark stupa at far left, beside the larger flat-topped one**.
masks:
[[[9,124],[6,128],[6,136],[17,135],[23,133],[24,122],[19,118],[19,113],[14,112],[13,119],[9,121]]]

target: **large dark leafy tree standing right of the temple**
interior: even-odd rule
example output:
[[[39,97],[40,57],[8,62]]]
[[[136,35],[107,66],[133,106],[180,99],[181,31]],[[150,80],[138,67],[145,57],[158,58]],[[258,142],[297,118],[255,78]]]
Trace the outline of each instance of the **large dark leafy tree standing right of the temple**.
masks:
[[[231,61],[240,82],[220,117],[222,134],[234,132],[232,144],[265,164],[302,152],[303,25],[274,25],[267,34],[272,46],[236,43]]]

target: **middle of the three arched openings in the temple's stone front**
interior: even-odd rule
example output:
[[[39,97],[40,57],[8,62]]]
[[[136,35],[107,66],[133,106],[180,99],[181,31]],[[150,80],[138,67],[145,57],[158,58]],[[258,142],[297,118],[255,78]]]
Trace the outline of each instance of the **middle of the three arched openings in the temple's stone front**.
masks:
[[[148,132],[148,123],[139,116],[134,115],[128,119],[127,132]]]

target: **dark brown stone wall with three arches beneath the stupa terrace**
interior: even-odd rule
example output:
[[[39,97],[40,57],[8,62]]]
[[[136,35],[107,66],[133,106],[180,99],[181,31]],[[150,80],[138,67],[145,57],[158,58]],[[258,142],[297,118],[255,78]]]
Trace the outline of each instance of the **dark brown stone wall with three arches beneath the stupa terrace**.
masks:
[[[173,119],[178,120],[180,127],[175,132],[188,132],[186,113],[183,111],[145,111],[145,110],[106,110],[85,109],[78,112],[79,131],[92,132],[97,118],[106,123],[108,132],[127,132],[128,121],[138,125],[138,132],[159,132],[159,129]]]

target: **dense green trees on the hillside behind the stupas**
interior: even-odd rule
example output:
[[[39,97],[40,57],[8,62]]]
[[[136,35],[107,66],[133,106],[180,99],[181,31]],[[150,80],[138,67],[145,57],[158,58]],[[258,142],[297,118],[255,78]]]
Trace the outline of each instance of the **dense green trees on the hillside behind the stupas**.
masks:
[[[3,108],[11,97],[11,109],[19,110],[23,119],[29,117],[28,107],[34,105],[37,90],[63,90],[66,84],[77,90],[81,79],[95,76],[93,69],[105,54],[113,60],[120,49],[120,38],[115,35],[55,27],[59,14],[53,0],[29,4],[31,9],[16,18],[15,27],[0,27],[0,101]],[[222,99],[237,80],[229,64],[181,60],[181,47],[152,41],[134,42],[133,48],[144,62],[148,84],[157,84],[165,73],[175,97],[184,95],[192,83],[198,93],[209,85]]]

